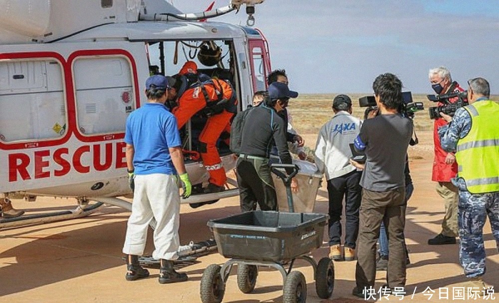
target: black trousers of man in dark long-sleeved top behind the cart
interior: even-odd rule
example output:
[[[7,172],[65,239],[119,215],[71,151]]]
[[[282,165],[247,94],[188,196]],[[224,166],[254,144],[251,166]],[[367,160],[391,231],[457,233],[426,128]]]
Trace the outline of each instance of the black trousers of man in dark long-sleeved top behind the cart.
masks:
[[[268,159],[239,158],[236,167],[241,211],[277,210],[277,195]]]

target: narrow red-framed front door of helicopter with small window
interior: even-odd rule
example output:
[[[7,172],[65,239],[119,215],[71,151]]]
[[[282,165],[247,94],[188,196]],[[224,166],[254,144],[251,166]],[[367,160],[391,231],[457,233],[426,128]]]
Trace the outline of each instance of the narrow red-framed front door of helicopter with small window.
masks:
[[[265,42],[262,39],[249,39],[251,77],[253,90],[267,90],[267,75],[270,73],[270,60]]]

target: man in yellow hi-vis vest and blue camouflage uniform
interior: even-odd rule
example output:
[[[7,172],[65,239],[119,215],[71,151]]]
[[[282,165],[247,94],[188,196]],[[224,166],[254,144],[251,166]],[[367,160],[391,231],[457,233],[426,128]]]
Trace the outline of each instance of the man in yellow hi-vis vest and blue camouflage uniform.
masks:
[[[473,286],[484,288],[487,214],[499,245],[499,104],[489,100],[490,86],[484,78],[468,84],[470,105],[458,109],[454,118],[440,113],[449,125],[438,135],[446,151],[457,151],[459,173],[453,183],[459,188],[459,260]]]

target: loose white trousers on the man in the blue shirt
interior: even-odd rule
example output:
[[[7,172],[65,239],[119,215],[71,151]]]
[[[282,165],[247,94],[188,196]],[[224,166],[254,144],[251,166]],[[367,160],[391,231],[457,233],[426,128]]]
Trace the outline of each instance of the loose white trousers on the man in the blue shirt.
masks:
[[[156,219],[154,259],[176,260],[179,241],[180,195],[175,175],[153,173],[135,176],[132,214],[123,245],[123,253],[142,255],[147,229]]]

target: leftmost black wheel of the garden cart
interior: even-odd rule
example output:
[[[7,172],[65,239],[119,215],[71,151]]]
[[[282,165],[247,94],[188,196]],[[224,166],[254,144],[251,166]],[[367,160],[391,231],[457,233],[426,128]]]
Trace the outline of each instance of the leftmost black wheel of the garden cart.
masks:
[[[220,275],[220,265],[211,264],[201,277],[201,301],[203,303],[220,303],[225,295],[225,283]]]

